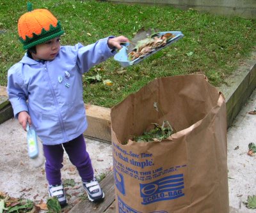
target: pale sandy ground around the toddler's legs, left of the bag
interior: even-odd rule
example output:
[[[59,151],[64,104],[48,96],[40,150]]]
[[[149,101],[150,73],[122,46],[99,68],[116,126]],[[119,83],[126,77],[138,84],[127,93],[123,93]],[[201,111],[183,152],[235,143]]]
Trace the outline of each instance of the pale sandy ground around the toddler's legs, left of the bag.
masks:
[[[10,119],[0,125],[1,135],[1,181],[0,192],[9,196],[28,198],[39,203],[46,202],[48,198],[47,180],[45,179],[44,165],[35,168],[40,161],[31,161],[28,157],[26,132],[16,119]],[[86,149],[92,159],[96,176],[107,174],[112,169],[112,150],[109,143],[86,140]],[[44,161],[44,158],[43,158]],[[62,180],[72,179],[74,187],[66,188],[68,202],[76,202],[79,196],[84,195],[81,179],[65,153]],[[86,195],[86,193],[85,193]]]

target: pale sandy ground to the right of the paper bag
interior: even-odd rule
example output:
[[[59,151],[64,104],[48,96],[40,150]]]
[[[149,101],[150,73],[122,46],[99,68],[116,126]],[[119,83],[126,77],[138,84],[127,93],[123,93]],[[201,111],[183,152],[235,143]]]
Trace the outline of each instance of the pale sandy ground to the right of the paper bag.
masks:
[[[244,201],[256,195],[256,154],[248,156],[248,144],[256,144],[256,115],[248,112],[256,107],[256,90],[228,129],[228,186],[230,207],[239,212],[256,212],[247,209]]]

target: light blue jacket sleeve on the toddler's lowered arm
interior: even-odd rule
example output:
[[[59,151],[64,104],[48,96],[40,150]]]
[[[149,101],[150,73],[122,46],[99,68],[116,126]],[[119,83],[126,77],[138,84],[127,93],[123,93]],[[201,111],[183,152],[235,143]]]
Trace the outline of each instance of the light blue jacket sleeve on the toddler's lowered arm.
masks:
[[[15,64],[8,70],[7,94],[12,104],[15,118],[18,117],[19,112],[28,112],[28,90],[24,87],[19,68],[20,66]]]

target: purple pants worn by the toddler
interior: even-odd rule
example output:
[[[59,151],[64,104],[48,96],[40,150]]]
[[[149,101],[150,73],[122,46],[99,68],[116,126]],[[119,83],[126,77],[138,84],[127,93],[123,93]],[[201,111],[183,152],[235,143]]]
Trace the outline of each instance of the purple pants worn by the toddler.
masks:
[[[50,185],[61,184],[61,168],[63,167],[64,149],[68,154],[71,163],[76,166],[79,175],[83,181],[93,179],[92,162],[88,152],[83,135],[74,140],[58,145],[44,145],[45,173],[46,179]]]

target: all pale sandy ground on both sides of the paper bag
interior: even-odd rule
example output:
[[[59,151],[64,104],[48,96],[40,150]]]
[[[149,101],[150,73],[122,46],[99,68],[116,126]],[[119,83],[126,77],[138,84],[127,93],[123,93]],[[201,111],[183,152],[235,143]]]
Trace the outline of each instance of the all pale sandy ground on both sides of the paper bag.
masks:
[[[256,91],[243,107],[232,127],[228,129],[228,187],[230,212],[256,212],[247,209],[244,202],[248,195],[256,195],[256,156],[248,156],[248,144],[256,143],[256,115],[248,112],[256,107]],[[47,181],[44,165],[33,168],[26,147],[26,133],[15,119],[0,125],[0,192],[19,198],[23,196],[40,202],[46,201]],[[112,169],[112,151],[109,143],[86,138],[87,149],[92,158],[95,175],[108,173]],[[67,188],[69,203],[75,203],[84,195],[81,180],[65,154],[62,179],[73,179],[76,186]],[[219,213],[219,212],[216,212]]]

